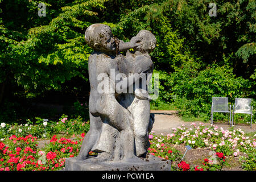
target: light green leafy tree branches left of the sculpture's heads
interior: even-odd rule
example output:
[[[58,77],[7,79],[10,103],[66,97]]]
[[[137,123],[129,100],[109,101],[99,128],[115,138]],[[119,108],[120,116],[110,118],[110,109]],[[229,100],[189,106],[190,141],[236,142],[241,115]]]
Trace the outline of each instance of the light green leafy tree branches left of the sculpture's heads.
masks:
[[[72,77],[81,77],[87,81],[87,61],[92,50],[85,44],[84,31],[92,24],[90,20],[95,20],[97,11],[105,9],[104,2],[60,1],[59,5],[52,2],[52,6],[47,4],[51,9],[47,11],[46,19],[51,16],[56,18],[52,18],[45,25],[46,22],[42,20],[44,17],[37,16],[35,11],[37,3],[22,1],[21,9],[26,6],[34,7],[28,13],[37,16],[34,26],[40,26],[26,27],[23,32],[16,31],[20,28],[18,26],[9,30],[10,23],[14,22],[0,26],[0,40],[3,42],[0,48],[0,83],[20,85],[27,96],[29,93],[39,95],[50,89],[60,90],[61,84]],[[7,9],[13,3],[16,2],[5,2],[3,7]],[[60,11],[61,5],[63,7]],[[28,13],[25,15],[31,16]],[[11,17],[11,20],[13,19],[14,17]]]

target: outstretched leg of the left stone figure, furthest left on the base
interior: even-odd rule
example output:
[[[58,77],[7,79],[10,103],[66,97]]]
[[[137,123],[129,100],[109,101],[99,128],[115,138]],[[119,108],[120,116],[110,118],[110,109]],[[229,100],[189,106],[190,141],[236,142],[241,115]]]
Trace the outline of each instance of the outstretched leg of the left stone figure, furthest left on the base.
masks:
[[[101,125],[101,118],[94,117],[90,113],[90,130],[85,135],[85,138],[82,141],[82,147],[79,155],[77,156],[77,160],[85,160],[88,158],[90,150],[92,150],[92,147],[97,142],[97,139],[100,135]]]

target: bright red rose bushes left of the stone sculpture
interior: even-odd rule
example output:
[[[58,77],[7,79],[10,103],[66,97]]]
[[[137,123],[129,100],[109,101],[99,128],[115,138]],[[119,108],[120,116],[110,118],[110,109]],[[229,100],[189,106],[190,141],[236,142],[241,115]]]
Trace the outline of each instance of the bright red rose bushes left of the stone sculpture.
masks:
[[[43,149],[37,148],[37,137],[15,135],[0,142],[0,171],[41,171],[59,170],[64,167],[65,158],[79,154],[84,134],[77,140],[57,139],[54,135],[51,142]]]

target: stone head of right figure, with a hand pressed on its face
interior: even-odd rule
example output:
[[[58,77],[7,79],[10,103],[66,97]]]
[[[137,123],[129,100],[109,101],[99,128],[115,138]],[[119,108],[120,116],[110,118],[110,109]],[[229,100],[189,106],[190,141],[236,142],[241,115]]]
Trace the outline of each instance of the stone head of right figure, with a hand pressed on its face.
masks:
[[[141,30],[136,37],[141,38],[141,46],[137,47],[139,51],[148,53],[154,51],[156,46],[156,38],[150,31]]]

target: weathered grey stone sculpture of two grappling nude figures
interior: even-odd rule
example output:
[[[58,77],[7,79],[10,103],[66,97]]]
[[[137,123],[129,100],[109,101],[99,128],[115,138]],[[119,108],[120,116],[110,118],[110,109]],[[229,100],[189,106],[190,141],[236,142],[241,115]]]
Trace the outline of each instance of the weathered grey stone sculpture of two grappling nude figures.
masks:
[[[85,40],[94,49],[88,60],[90,130],[79,155],[66,160],[66,167],[74,169],[74,160],[79,165],[98,163],[101,167],[102,162],[112,167],[117,162],[141,164],[154,123],[147,82],[153,72],[149,53],[156,46],[155,36],[142,30],[125,43],[113,37],[109,26],[92,24],[85,31]],[[126,55],[121,51],[127,51]],[[98,155],[89,156],[90,151]]]

